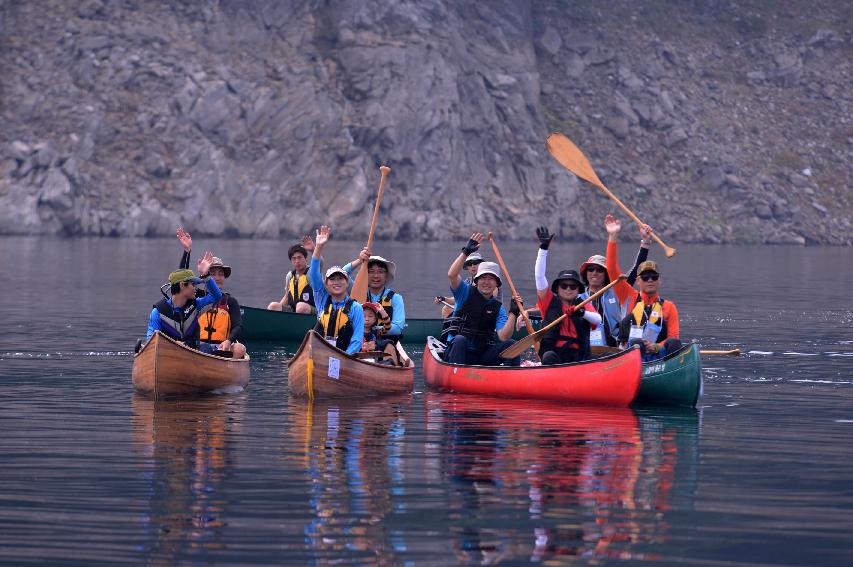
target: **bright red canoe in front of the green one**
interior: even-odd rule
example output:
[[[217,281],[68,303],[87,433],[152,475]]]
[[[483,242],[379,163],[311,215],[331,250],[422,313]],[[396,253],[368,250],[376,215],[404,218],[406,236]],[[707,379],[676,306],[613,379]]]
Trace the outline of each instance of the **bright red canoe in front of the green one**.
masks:
[[[464,366],[441,359],[444,345],[434,337],[424,349],[428,386],[466,394],[627,406],[640,387],[640,352],[554,366]]]

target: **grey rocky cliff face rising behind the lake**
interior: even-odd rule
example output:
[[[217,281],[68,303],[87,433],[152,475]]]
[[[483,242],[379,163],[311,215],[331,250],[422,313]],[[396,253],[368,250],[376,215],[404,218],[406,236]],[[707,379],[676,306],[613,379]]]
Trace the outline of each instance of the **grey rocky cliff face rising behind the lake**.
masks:
[[[0,0],[0,233],[360,236],[385,163],[380,237],[600,240],[615,208],[547,154],[560,130],[673,242],[850,244],[847,8],[797,4],[811,28],[674,0]]]

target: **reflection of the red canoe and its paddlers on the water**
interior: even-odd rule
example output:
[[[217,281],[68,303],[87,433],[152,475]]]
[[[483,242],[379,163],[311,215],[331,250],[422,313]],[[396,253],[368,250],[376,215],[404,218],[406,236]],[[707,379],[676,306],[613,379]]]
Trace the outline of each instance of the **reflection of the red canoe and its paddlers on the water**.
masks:
[[[628,408],[436,393],[426,403],[428,427],[443,440],[427,454],[451,487],[450,530],[464,562],[651,559],[642,550],[667,537],[679,460],[697,456],[682,447],[697,442],[695,410],[691,436],[666,416]]]

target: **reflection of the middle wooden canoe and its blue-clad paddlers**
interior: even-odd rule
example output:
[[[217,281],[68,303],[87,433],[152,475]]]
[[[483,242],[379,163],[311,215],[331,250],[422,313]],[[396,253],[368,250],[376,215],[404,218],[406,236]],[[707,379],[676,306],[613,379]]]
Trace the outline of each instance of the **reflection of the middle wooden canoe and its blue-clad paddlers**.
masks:
[[[378,400],[292,399],[288,428],[301,443],[298,458],[310,481],[314,519],[305,541],[318,560],[345,552],[348,560],[394,564],[405,551],[402,531],[389,530],[387,515],[405,498],[403,447],[411,395]]]

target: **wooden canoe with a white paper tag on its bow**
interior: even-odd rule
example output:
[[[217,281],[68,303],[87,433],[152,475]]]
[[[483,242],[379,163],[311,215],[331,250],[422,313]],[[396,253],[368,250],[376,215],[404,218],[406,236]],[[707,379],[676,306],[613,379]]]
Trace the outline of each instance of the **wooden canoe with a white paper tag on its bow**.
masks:
[[[407,366],[361,360],[335,348],[315,331],[305,333],[296,354],[287,362],[287,381],[294,396],[340,398],[411,392],[415,363],[397,345]]]

